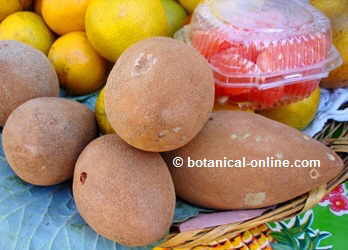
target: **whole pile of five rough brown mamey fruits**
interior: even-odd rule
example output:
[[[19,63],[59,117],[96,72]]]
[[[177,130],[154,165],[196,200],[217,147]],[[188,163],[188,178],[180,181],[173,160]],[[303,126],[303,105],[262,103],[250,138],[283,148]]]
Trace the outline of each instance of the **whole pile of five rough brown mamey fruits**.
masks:
[[[73,177],[82,217],[124,245],[160,240],[171,225],[176,195],[213,209],[267,207],[326,183],[343,166],[333,151],[294,128],[251,112],[212,112],[213,73],[181,41],[150,38],[121,55],[105,88],[106,114],[116,134],[99,138],[92,111],[57,97],[57,76],[40,52],[1,41],[0,57],[1,94],[13,101],[1,106],[10,113],[3,119],[10,166],[35,185]],[[29,100],[12,110],[23,98]],[[177,157],[181,168],[173,165]],[[320,160],[321,166],[188,167],[189,157]]]

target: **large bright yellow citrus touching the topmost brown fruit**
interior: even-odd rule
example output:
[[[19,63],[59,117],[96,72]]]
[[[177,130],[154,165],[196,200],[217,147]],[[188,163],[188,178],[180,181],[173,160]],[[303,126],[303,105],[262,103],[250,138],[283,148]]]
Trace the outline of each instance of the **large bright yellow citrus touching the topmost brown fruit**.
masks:
[[[161,0],[91,0],[86,32],[96,50],[115,62],[134,43],[168,35],[168,23]]]

